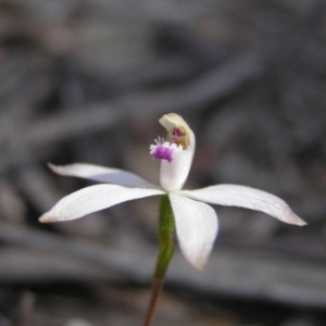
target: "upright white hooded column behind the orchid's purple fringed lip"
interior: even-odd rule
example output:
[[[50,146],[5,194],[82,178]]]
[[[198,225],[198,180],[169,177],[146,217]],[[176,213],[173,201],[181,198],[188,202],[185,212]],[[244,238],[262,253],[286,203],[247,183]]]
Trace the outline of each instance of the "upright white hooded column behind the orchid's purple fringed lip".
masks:
[[[187,133],[187,148],[176,152],[172,163],[161,162],[160,183],[162,188],[166,191],[180,190],[187,180],[192,164],[196,137],[183,117],[175,113],[163,115],[159,122],[166,128],[167,133],[171,133],[174,127],[183,127]]]

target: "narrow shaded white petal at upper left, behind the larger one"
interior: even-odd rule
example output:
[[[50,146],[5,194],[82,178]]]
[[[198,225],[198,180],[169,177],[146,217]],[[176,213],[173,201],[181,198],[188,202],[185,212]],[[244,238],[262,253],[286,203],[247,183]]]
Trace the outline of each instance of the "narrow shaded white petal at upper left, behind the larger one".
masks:
[[[99,183],[115,184],[125,187],[159,189],[136,174],[127,171],[104,167],[100,165],[75,163],[68,165],[54,165],[49,163],[53,172],[64,176],[75,176]]]

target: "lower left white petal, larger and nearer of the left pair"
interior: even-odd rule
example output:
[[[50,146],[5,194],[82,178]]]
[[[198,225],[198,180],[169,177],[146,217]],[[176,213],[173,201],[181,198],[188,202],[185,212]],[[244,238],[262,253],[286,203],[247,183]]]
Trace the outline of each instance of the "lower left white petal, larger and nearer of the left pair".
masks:
[[[96,185],[64,197],[49,212],[43,214],[39,221],[51,223],[75,220],[124,201],[163,193],[162,190],[156,189]]]

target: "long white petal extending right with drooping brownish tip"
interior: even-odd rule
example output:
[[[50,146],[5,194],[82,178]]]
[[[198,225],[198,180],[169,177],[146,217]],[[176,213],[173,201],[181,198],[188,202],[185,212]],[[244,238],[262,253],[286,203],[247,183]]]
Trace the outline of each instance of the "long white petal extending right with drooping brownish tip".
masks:
[[[289,224],[306,224],[280,198],[250,187],[217,185],[198,190],[183,190],[180,193],[209,203],[261,211]]]

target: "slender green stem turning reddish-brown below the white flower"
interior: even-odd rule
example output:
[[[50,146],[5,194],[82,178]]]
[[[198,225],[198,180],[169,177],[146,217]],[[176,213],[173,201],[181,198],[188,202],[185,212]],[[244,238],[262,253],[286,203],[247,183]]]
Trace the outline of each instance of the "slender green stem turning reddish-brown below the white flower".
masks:
[[[159,218],[160,252],[156,260],[156,266],[153,276],[151,300],[146,314],[143,326],[150,326],[151,321],[153,318],[158,299],[163,287],[165,274],[175,249],[174,231],[175,231],[174,215],[171,208],[170,198],[167,195],[164,195],[162,196],[161,203],[160,203],[160,218]]]

